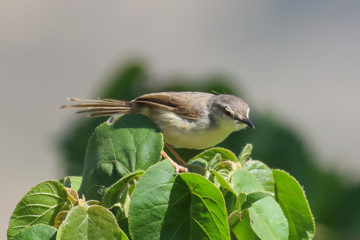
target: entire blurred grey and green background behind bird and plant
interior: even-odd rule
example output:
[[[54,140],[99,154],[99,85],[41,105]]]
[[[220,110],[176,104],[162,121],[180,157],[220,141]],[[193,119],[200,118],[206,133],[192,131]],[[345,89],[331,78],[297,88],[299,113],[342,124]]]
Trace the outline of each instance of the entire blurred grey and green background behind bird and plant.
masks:
[[[0,232],[33,185],[81,175],[106,118],[66,98],[226,92],[255,130],[220,146],[303,185],[315,239],[360,238],[360,1],[1,1]],[[186,159],[198,152],[182,149]]]

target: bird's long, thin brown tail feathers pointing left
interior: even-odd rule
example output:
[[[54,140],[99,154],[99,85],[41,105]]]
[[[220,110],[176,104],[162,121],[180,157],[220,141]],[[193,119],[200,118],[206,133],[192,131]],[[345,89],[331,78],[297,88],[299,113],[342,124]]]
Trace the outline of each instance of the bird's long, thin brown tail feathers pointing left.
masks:
[[[84,101],[70,106],[62,106],[60,108],[86,108],[76,113],[90,113],[87,117],[100,116],[120,116],[125,113],[137,113],[139,108],[136,103],[108,98],[98,98],[99,100],[82,100],[76,98],[68,98],[70,101]],[[109,119],[110,120],[110,119]]]

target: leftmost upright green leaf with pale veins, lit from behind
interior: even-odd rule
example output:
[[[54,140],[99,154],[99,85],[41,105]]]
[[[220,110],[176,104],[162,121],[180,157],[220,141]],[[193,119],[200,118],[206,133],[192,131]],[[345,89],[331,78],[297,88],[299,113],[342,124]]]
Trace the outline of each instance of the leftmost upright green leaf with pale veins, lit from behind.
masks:
[[[33,186],[19,201],[13,215],[10,217],[8,238],[21,229],[44,223],[55,226],[56,215],[64,209],[67,203],[65,187],[57,181],[48,180]]]

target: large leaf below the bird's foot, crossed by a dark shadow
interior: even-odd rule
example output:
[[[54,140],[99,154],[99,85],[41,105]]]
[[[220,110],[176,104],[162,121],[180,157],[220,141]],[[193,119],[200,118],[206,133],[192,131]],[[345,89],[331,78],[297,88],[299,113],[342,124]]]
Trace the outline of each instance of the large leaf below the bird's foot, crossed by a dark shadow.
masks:
[[[133,239],[230,239],[221,192],[195,173],[174,176],[168,160],[150,167],[132,193]]]

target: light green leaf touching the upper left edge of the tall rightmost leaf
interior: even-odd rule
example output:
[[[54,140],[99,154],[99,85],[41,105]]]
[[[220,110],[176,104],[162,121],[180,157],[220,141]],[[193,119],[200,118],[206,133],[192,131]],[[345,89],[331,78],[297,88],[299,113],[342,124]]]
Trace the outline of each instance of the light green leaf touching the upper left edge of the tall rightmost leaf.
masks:
[[[242,168],[254,175],[266,191],[275,193],[275,180],[273,172],[271,172],[271,169],[264,163],[256,160],[250,160],[244,163]]]

